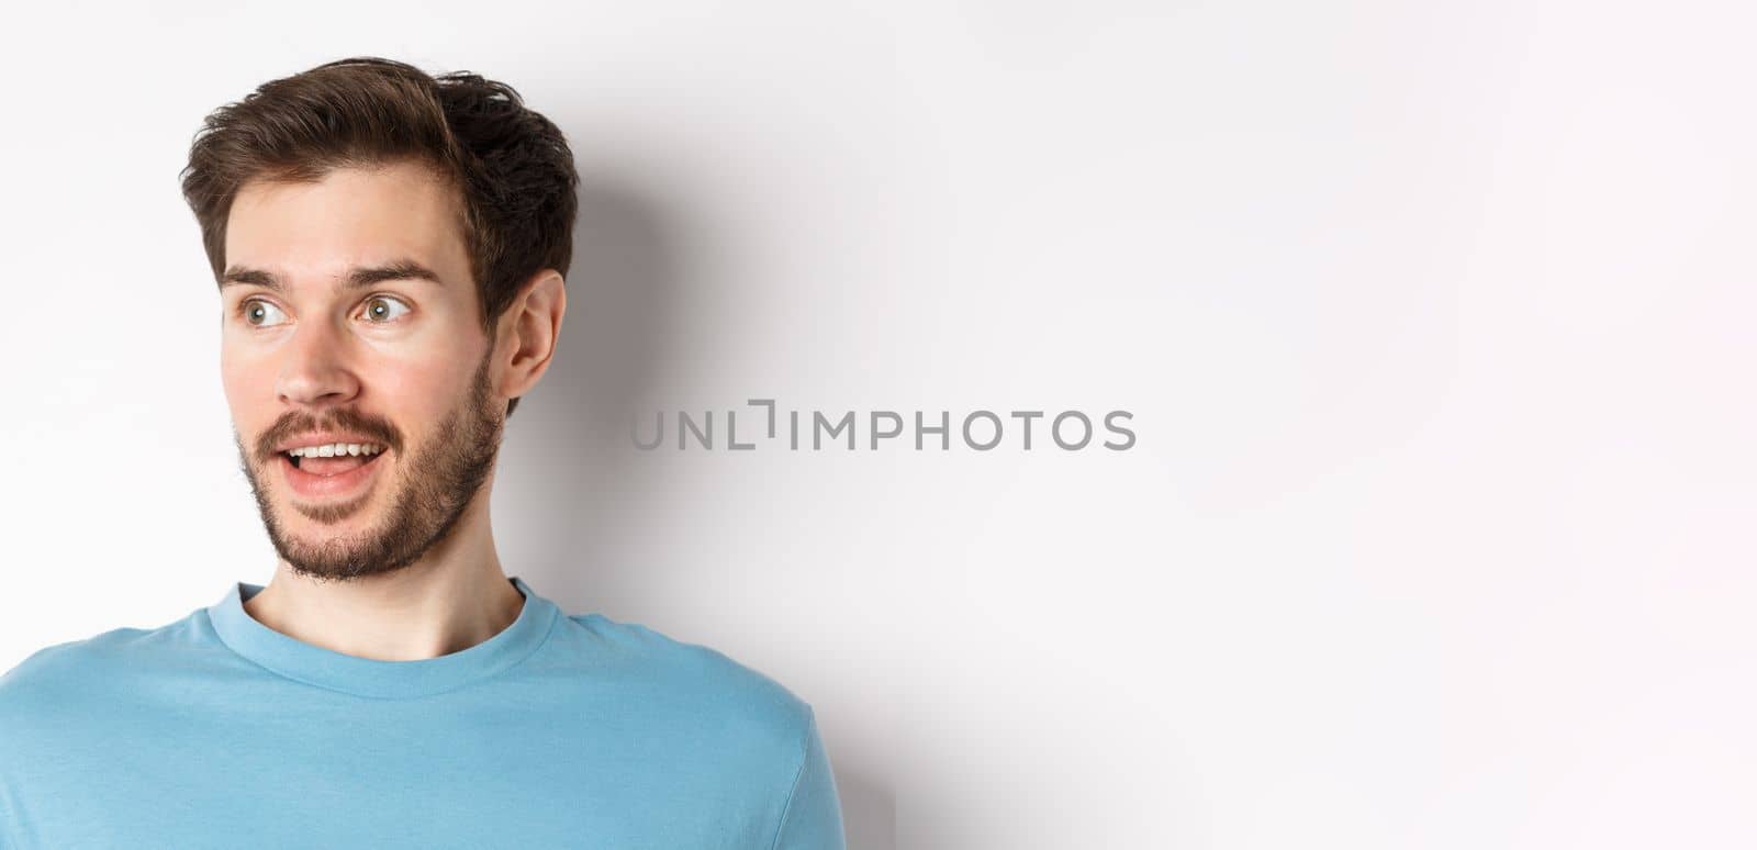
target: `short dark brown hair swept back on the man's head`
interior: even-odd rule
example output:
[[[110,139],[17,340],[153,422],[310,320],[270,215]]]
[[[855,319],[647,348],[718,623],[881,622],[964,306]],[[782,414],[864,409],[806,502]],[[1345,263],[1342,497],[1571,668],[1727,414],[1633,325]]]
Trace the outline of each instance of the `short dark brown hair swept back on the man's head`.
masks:
[[[264,83],[207,116],[183,169],[214,281],[232,198],[251,179],[318,181],[332,169],[420,162],[462,198],[460,232],[483,330],[543,269],[573,262],[580,176],[562,132],[511,86],[355,56]],[[506,413],[513,413],[513,399]]]

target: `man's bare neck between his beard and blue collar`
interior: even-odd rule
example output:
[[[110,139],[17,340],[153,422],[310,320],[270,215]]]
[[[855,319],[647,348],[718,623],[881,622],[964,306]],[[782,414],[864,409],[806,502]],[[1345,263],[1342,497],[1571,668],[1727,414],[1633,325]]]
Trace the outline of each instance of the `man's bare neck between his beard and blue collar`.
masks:
[[[351,581],[313,581],[283,560],[244,602],[288,638],[374,660],[422,660],[494,638],[524,609],[494,551],[487,516],[466,516],[415,564]]]

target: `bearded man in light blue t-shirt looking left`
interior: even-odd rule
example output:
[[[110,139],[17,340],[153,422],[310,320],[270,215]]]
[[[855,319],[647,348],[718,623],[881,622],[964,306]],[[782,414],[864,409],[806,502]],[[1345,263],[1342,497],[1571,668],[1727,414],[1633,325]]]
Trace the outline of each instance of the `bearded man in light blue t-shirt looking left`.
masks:
[[[474,74],[343,60],[207,118],[183,190],[279,564],[0,678],[0,848],[843,846],[806,702],[495,557],[576,184]]]

